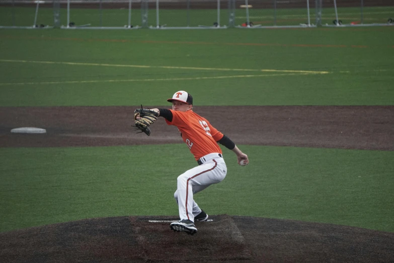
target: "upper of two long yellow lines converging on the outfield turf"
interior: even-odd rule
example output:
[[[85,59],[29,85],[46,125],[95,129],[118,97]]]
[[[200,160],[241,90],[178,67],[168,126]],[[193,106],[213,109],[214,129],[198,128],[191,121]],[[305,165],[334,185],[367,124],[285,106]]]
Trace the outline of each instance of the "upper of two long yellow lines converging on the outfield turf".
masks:
[[[178,69],[178,70],[202,70],[202,71],[250,71],[250,72],[285,72],[285,73],[308,73],[308,74],[328,74],[326,71],[288,71],[288,70],[250,70],[250,69],[217,69],[217,68],[193,68],[193,67],[171,67],[171,66],[147,66],[147,65],[125,65],[125,64],[103,64],[103,63],[81,63],[81,62],[60,62],[60,61],[34,61],[34,60],[11,60],[0,59],[1,62],[20,63],[41,63],[41,64],[65,64],[65,65],[90,65],[100,67],[125,67],[144,69]]]

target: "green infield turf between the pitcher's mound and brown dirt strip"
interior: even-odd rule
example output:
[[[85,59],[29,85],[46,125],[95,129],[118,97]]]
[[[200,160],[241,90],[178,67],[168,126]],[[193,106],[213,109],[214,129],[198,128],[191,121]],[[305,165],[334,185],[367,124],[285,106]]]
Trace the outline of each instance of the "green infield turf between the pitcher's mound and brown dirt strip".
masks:
[[[239,166],[224,149],[225,180],[196,194],[208,213],[394,231],[393,152],[241,149],[250,165]],[[163,153],[171,160],[150,165],[151,156]],[[0,154],[0,231],[93,217],[177,215],[176,178],[195,165],[183,144],[2,148]]]

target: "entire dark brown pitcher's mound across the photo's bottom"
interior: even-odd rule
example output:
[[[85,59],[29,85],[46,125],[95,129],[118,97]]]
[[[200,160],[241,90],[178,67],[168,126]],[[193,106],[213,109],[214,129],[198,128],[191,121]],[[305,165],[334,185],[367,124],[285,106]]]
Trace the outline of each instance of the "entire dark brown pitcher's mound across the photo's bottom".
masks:
[[[210,216],[197,234],[175,217],[86,219],[0,233],[2,262],[392,262],[394,233],[348,226]],[[149,222],[149,221],[156,222]]]

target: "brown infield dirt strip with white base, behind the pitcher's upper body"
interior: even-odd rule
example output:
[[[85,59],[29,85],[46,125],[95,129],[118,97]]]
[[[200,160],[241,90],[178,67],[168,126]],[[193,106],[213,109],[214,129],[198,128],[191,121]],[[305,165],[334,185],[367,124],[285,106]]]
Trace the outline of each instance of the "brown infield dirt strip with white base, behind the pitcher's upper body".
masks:
[[[0,147],[183,143],[162,118],[151,136],[136,134],[130,124],[137,107],[2,107]],[[394,150],[394,106],[201,106],[195,112],[239,145]],[[12,134],[16,127],[47,134]]]

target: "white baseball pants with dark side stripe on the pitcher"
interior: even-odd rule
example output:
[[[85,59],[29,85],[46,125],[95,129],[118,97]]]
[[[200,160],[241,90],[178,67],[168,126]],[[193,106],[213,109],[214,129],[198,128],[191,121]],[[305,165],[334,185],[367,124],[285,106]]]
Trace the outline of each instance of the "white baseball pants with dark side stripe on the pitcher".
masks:
[[[220,155],[221,156],[221,155]],[[179,207],[179,216],[194,222],[194,216],[201,209],[193,200],[193,194],[204,190],[209,185],[221,182],[227,173],[224,159],[218,153],[205,155],[200,159],[203,164],[194,167],[178,176],[177,191],[174,193]]]

